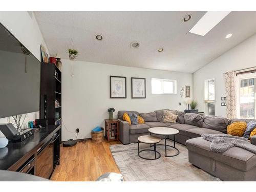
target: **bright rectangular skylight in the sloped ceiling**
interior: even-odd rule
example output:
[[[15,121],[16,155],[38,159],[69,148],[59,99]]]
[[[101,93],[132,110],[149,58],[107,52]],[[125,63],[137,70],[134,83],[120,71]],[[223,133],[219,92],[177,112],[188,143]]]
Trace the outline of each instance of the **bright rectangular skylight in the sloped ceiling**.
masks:
[[[189,32],[204,36],[230,12],[231,11],[207,11]]]

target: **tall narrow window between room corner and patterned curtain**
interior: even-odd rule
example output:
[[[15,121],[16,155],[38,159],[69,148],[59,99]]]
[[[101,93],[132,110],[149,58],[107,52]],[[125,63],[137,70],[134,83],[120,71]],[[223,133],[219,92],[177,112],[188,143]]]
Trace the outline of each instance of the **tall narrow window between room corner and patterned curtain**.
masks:
[[[204,100],[208,115],[215,115],[215,79],[206,79],[204,82]]]

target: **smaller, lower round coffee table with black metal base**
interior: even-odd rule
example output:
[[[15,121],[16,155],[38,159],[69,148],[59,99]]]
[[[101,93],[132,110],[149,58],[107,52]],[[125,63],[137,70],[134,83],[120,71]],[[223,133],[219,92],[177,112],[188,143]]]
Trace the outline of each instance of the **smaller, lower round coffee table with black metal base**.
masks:
[[[161,139],[159,137],[153,136],[153,135],[143,135],[138,137],[138,156],[142,159],[146,159],[146,160],[155,160],[155,159],[159,159],[161,157],[161,154],[156,150],[156,144],[159,143],[161,141]],[[140,142],[141,143],[146,143],[146,144],[150,144],[150,146],[154,146],[154,150],[141,150],[140,151]],[[141,152],[144,151],[153,151],[155,152],[155,158],[145,158],[142,157],[140,155]],[[158,154],[158,157],[157,157]]]

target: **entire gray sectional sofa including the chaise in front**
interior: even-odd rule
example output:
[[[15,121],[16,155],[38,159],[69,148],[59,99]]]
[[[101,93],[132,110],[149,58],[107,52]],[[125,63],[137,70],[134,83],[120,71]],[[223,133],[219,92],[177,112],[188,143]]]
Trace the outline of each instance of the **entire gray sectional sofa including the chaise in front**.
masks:
[[[166,109],[168,110],[168,109]],[[150,127],[173,127],[179,130],[175,140],[186,145],[188,161],[195,166],[224,181],[256,181],[256,155],[239,147],[232,147],[224,153],[210,151],[209,141],[201,138],[202,134],[226,133],[227,126],[235,121],[252,119],[227,119],[218,116],[201,116],[173,110],[177,115],[176,123],[163,122],[163,110],[152,113],[138,113],[136,111],[119,111],[119,139],[123,144],[138,142],[141,135],[149,135]],[[122,120],[124,113],[136,113],[145,123],[129,125]],[[255,119],[254,119],[255,120]],[[158,136],[159,137],[159,136]],[[172,136],[169,139],[173,139]],[[256,145],[256,136],[251,137],[251,143]]]

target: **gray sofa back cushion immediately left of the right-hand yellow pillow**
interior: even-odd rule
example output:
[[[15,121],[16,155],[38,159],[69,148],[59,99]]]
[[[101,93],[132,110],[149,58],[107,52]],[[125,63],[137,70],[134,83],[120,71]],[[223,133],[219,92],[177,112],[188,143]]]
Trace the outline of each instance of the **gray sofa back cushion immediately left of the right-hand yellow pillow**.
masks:
[[[225,117],[208,115],[204,117],[203,127],[226,133],[228,123],[229,121]]]

